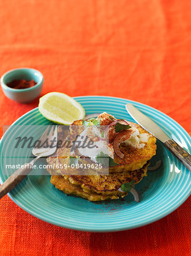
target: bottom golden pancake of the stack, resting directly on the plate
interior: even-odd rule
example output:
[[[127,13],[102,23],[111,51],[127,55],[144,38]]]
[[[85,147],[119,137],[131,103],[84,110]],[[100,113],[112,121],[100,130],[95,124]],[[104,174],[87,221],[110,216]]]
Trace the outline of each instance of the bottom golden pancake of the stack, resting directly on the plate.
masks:
[[[119,199],[119,197],[124,197],[128,195],[128,192],[122,193],[120,191],[111,192],[109,195],[104,195],[101,193],[98,194],[96,192],[86,193],[83,191],[83,189],[80,186],[71,184],[69,180],[66,180],[64,177],[60,175],[52,175],[50,179],[50,183],[52,183],[54,187],[64,192],[66,195],[71,194],[75,196],[80,196],[89,201]]]

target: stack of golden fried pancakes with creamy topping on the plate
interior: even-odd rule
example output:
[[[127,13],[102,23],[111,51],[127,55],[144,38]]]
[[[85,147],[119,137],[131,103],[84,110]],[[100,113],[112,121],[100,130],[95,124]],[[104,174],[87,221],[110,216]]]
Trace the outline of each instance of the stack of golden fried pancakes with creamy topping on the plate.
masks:
[[[89,175],[87,175],[87,172],[86,175],[83,175],[84,171],[87,171],[87,168],[86,170],[82,168],[84,166],[83,164],[90,163],[90,166],[95,164],[93,160],[96,155],[91,155],[93,158],[90,158],[89,151],[88,154],[87,152],[84,153],[84,151],[81,151],[80,154],[77,147],[72,151],[71,147],[67,147],[67,143],[63,143],[62,147],[58,148],[56,155],[46,159],[48,162],[47,171],[52,175],[50,182],[56,188],[66,194],[80,196],[90,201],[118,199],[119,197],[128,195],[128,192],[120,192],[118,189],[121,188],[122,184],[130,183],[133,180],[135,184],[137,184],[144,176],[147,176],[147,166],[150,164],[152,156],[156,153],[156,138],[142,129],[141,126],[133,122],[128,122],[131,126],[131,130],[128,127],[129,133],[127,133],[127,130],[118,131],[116,129],[116,123],[120,122],[120,119],[116,119],[107,113],[100,114],[99,117],[102,118],[101,122],[104,122],[102,125],[109,125],[108,133],[104,129],[101,130],[104,131],[103,133],[107,134],[109,138],[108,144],[104,145],[104,147],[102,146],[102,148],[108,147],[109,150],[112,148],[109,152],[111,156],[109,156],[113,159],[114,164],[116,163],[114,166],[109,167],[103,165],[103,168],[100,169],[100,171],[103,172],[104,170],[108,171],[109,168],[109,175],[100,174],[99,170],[95,170],[94,168],[92,170],[90,168],[88,172]],[[123,122],[127,123],[126,121]],[[124,123],[122,123],[122,125],[124,125]],[[84,129],[82,120],[74,121],[68,130],[65,130],[64,127],[58,128],[58,138],[63,139],[64,142],[73,142],[77,135],[81,134]],[[122,138],[123,134],[129,134],[129,137],[125,137],[124,139]],[[121,142],[117,139],[118,136],[120,139],[122,138]],[[95,141],[97,138],[99,141],[102,135],[94,136]],[[97,146],[97,148],[99,147]],[[118,148],[118,151],[116,148]],[[90,148],[88,150],[90,150]],[[123,158],[120,158],[121,155],[117,155],[115,152],[117,152],[117,154],[121,152]],[[84,156],[82,154],[86,155]],[[104,153],[102,152],[102,154]],[[82,163],[82,167],[76,168],[75,166],[75,168],[72,169],[70,164],[71,156],[75,158],[79,157],[78,166]],[[110,163],[110,165],[112,164]],[[66,171],[70,173],[68,174]],[[95,171],[97,172],[96,174]]]

